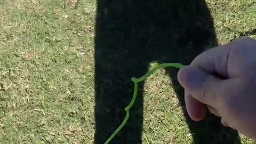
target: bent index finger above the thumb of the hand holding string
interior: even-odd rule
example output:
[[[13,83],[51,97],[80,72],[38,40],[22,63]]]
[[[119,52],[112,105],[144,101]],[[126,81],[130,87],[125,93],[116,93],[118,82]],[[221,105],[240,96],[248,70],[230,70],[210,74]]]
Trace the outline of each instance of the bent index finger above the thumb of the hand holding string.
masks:
[[[223,79],[237,77],[244,74],[244,71],[242,72],[237,69],[237,66],[247,66],[244,61],[250,62],[254,60],[251,58],[254,58],[255,46],[256,41],[253,38],[237,38],[228,44],[209,49],[199,54],[191,62],[191,66],[202,69],[206,73],[217,74]],[[229,69],[232,70],[228,70],[228,65]]]

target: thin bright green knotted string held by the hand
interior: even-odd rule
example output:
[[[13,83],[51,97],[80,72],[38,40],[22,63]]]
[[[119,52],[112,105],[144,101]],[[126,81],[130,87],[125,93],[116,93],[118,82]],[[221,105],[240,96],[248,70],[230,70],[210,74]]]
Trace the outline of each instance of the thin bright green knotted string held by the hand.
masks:
[[[154,67],[153,69],[149,70],[147,74],[143,75],[140,78],[135,78],[132,77],[132,81],[134,83],[134,92],[133,92],[133,96],[132,96],[132,100],[129,103],[129,105],[127,107],[124,108],[124,110],[126,111],[126,116],[124,118],[124,121],[122,122],[122,124],[116,129],[116,131],[111,134],[111,136],[107,139],[107,141],[105,142],[105,144],[108,144],[115,136],[116,134],[121,131],[121,129],[124,127],[124,125],[126,124],[126,122],[129,119],[130,116],[130,109],[132,108],[136,98],[137,98],[137,94],[138,94],[138,83],[144,81],[145,79],[147,79],[147,77],[149,77],[150,75],[152,75],[156,70],[161,69],[161,68],[165,68],[165,67],[175,67],[175,68],[182,68],[184,67],[184,65],[181,65],[180,63],[162,63],[161,65],[158,65],[156,67]]]

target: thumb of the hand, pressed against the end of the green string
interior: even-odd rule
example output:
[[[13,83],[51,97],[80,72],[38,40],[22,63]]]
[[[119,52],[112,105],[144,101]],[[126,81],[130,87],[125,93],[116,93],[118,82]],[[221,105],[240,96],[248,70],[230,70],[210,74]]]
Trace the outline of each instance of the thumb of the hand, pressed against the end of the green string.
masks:
[[[186,66],[179,70],[178,80],[185,90],[199,102],[212,107],[219,102],[222,79],[193,67]]]

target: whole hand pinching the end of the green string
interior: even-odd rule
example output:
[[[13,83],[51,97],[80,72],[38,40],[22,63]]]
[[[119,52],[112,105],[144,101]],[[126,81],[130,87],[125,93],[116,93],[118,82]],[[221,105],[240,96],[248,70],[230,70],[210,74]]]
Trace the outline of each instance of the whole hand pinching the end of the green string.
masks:
[[[256,41],[249,37],[207,50],[179,70],[189,116],[206,110],[221,123],[256,140]]]

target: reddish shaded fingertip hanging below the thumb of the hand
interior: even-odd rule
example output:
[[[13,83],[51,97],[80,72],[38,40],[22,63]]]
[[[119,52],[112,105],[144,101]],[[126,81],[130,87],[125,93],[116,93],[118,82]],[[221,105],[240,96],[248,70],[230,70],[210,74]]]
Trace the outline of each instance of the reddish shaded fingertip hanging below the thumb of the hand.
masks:
[[[205,118],[206,109],[207,109],[206,105],[196,100],[186,90],[185,90],[185,102],[186,102],[188,115],[191,119],[198,122]]]

